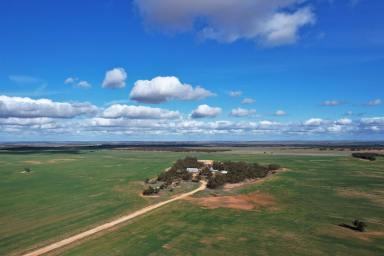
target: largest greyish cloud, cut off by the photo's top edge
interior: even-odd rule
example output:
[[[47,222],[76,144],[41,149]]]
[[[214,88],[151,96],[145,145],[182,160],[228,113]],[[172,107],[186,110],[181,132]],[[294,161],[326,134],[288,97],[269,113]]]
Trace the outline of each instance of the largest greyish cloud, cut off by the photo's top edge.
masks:
[[[292,44],[315,23],[302,0],[136,0],[147,25],[169,33],[195,31],[203,39],[259,45]],[[170,10],[172,10],[170,12]]]

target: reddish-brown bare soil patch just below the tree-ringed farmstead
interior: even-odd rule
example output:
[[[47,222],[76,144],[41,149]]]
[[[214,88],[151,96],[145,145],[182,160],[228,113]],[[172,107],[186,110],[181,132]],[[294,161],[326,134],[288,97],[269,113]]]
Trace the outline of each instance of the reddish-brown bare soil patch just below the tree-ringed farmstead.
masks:
[[[275,199],[272,196],[261,192],[246,195],[187,198],[186,200],[208,209],[231,208],[248,211],[262,208],[267,208],[269,210],[277,209]]]

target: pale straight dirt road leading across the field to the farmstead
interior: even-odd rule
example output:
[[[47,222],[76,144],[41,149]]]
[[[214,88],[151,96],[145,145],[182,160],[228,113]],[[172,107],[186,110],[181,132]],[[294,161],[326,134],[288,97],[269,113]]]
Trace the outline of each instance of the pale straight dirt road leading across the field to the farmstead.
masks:
[[[58,249],[58,248],[60,248],[60,247],[63,247],[63,246],[69,245],[69,244],[71,244],[71,243],[77,242],[77,241],[79,241],[79,240],[81,240],[81,239],[83,239],[83,238],[89,237],[89,236],[91,236],[91,235],[93,235],[93,234],[96,234],[96,233],[98,233],[98,232],[101,232],[101,231],[107,230],[107,229],[109,229],[109,228],[112,228],[112,227],[114,227],[114,226],[117,226],[117,225],[119,225],[119,224],[121,224],[121,223],[123,223],[123,222],[126,222],[126,221],[128,221],[128,220],[131,220],[131,219],[133,219],[133,218],[136,218],[137,216],[143,215],[143,214],[145,214],[145,213],[147,213],[147,212],[150,212],[150,211],[152,211],[152,210],[154,210],[154,209],[157,209],[157,208],[159,208],[159,207],[161,207],[161,206],[164,206],[164,205],[169,204],[169,203],[172,203],[172,202],[174,202],[174,201],[177,201],[177,200],[183,199],[183,198],[185,198],[185,197],[191,196],[191,195],[195,194],[196,192],[199,192],[199,191],[201,191],[201,190],[204,190],[204,189],[206,188],[206,186],[207,186],[207,183],[206,183],[205,181],[202,181],[200,187],[197,188],[197,189],[195,189],[195,190],[192,190],[192,191],[190,191],[190,192],[181,194],[181,195],[176,196],[176,197],[174,197],[174,198],[172,198],[172,199],[169,199],[169,200],[166,200],[166,201],[163,201],[163,202],[154,204],[154,205],[147,206],[147,207],[145,207],[145,208],[143,208],[143,209],[140,209],[140,210],[137,210],[137,211],[135,211],[135,212],[133,212],[133,213],[130,213],[130,214],[128,214],[128,215],[122,216],[122,217],[120,217],[120,218],[118,218],[118,219],[116,219],[116,220],[107,222],[107,223],[105,223],[105,224],[103,224],[103,225],[100,225],[100,226],[97,226],[97,227],[92,228],[92,229],[90,229],[90,230],[81,232],[81,233],[79,233],[79,234],[77,234],[77,235],[68,237],[68,238],[66,238],[66,239],[64,239],[64,240],[61,240],[61,241],[58,241],[58,242],[56,242],[56,243],[47,245],[47,246],[42,247],[42,248],[40,248],[40,249],[38,249],[38,250],[35,250],[35,251],[33,251],[33,252],[26,253],[26,254],[24,254],[23,256],[38,256],[38,255],[43,255],[43,254],[48,253],[48,252],[50,252],[50,251],[56,250],[56,249]]]

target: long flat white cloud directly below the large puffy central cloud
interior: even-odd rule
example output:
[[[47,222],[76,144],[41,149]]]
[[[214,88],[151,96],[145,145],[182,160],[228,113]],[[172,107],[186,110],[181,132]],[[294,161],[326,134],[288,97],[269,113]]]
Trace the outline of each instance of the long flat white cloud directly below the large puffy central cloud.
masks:
[[[102,116],[105,118],[176,119],[180,118],[180,113],[161,108],[115,104],[105,109]]]

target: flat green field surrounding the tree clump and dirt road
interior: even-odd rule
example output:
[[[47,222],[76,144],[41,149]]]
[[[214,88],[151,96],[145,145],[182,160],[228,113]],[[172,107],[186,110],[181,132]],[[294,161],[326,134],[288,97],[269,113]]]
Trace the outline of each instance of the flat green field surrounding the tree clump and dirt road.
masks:
[[[0,255],[49,244],[162,200],[142,198],[142,181],[186,155],[288,168],[263,183],[218,191],[259,191],[273,197],[277,209],[207,209],[179,201],[53,254],[384,255],[383,158],[252,150],[0,154]],[[32,172],[22,173],[24,167]],[[367,232],[337,226],[356,218],[368,224]]]

